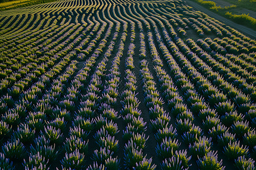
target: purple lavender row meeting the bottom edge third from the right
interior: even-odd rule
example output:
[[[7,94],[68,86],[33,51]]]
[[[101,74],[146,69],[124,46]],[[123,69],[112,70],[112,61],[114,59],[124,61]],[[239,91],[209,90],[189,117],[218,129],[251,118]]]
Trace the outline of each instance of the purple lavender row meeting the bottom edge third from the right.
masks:
[[[148,32],[150,35],[150,32]],[[144,35],[141,33],[141,44],[144,44]],[[150,40],[149,40],[150,41]],[[151,51],[154,50],[154,44],[150,44]],[[141,46],[141,51],[145,50],[146,46]],[[146,56],[145,56],[146,57]],[[177,149],[179,148],[178,140],[175,139],[177,133],[176,129],[172,125],[169,126],[171,117],[168,116],[162,107],[163,100],[160,98],[159,92],[156,90],[155,82],[150,70],[147,67],[145,57],[142,57],[141,61],[141,74],[143,78],[143,91],[145,95],[145,101],[149,108],[151,128],[155,133],[157,141],[156,154],[163,161],[162,169],[174,168],[187,168],[186,161],[190,158],[186,158],[186,151],[182,151],[178,154]],[[156,56],[154,56],[155,59]],[[183,161],[181,157],[185,158]]]

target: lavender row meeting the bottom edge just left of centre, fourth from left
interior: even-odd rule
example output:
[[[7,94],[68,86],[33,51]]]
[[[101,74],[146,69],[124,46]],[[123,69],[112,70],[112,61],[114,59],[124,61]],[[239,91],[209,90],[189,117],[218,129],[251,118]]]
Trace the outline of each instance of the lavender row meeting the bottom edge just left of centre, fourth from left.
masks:
[[[103,11],[105,10],[104,7]],[[103,15],[105,18],[105,15]],[[106,19],[109,23],[109,27],[113,27],[113,23]],[[118,25],[116,25],[118,27]],[[115,28],[117,30],[117,28]],[[113,39],[108,46],[108,50],[104,54],[105,63],[111,57],[111,54],[114,49],[115,41],[117,40],[118,32],[114,33]],[[115,66],[115,63],[113,63]],[[106,73],[105,67],[102,68],[102,71]],[[96,133],[94,134],[94,139],[97,143],[97,150],[93,152],[93,165],[91,164],[88,169],[118,169],[119,168],[119,159],[117,157],[113,158],[118,151],[118,139],[115,139],[117,135],[118,126],[117,120],[118,115],[114,107],[117,103],[116,97],[118,96],[117,87],[118,87],[118,71],[110,70],[110,74],[105,75],[101,74],[102,80],[105,80],[105,86],[101,85],[102,95],[98,99],[99,116],[96,118]]]

